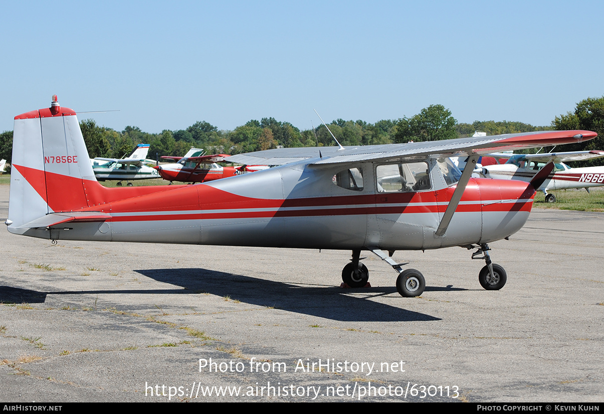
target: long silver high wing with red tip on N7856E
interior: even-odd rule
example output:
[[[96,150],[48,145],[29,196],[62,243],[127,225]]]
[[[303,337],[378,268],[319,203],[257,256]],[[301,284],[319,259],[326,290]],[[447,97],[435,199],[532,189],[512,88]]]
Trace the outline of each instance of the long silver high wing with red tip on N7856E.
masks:
[[[225,161],[240,164],[282,165],[320,158],[311,165],[388,161],[405,158],[486,155],[490,152],[580,143],[596,137],[591,131],[541,131],[522,134],[468,137],[445,141],[349,147],[278,148],[231,155]]]

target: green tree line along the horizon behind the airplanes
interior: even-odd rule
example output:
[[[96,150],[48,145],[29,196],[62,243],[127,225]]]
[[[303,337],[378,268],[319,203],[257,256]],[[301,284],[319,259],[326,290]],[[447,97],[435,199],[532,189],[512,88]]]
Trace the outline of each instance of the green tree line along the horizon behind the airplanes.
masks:
[[[335,145],[324,125],[301,131],[289,122],[277,121],[272,117],[250,120],[233,131],[219,130],[207,121],[198,121],[178,131],[164,129],[160,134],[143,132],[137,126],[115,131],[99,126],[91,119],[81,121],[80,128],[91,158],[121,158],[140,143],[150,144],[149,158],[182,156],[190,147],[203,148],[208,154],[233,155],[276,147]],[[599,137],[586,143],[565,146],[564,150],[604,150],[604,96],[582,100],[577,103],[574,112],[556,116],[549,126],[533,126],[518,121],[458,123],[443,105],[430,105],[413,117],[381,120],[373,124],[339,118],[330,123],[329,129],[343,146],[448,140],[469,137],[475,131],[498,135],[548,129],[586,129],[597,132]],[[0,134],[0,158],[8,163],[11,161],[12,143],[12,131]]]

